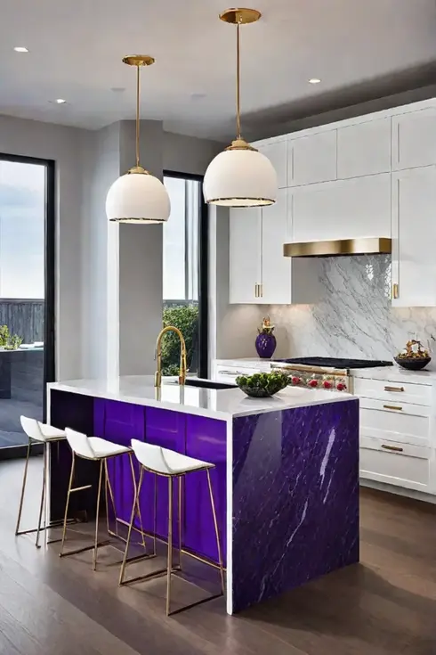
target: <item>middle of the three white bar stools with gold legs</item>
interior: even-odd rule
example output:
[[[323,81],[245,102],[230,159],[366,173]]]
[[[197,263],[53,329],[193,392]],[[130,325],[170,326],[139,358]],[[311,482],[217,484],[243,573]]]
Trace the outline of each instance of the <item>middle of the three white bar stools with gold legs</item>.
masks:
[[[136,479],[133,469],[133,460],[132,454],[133,451],[129,446],[120,446],[114,444],[111,441],[100,437],[88,437],[82,432],[77,432],[76,430],[71,430],[70,428],[65,429],[66,438],[69,442],[69,446],[72,452],[72,463],[71,463],[71,472],[69,475],[69,490],[67,494],[67,503],[65,505],[65,516],[63,520],[63,529],[62,529],[62,539],[61,539],[61,553],[60,557],[67,557],[69,555],[74,555],[77,553],[85,553],[85,551],[93,550],[93,570],[97,568],[97,551],[101,546],[112,545],[109,540],[98,541],[99,536],[99,514],[100,514],[100,499],[101,499],[101,481],[103,477],[103,468],[105,471],[105,491],[106,491],[106,504],[108,505],[108,490],[109,496],[112,504],[114,514],[117,517],[117,511],[115,506],[114,494],[112,491],[112,486],[110,484],[109,474],[108,474],[108,460],[113,457],[119,457],[123,454],[128,454],[130,457],[130,466],[132,470],[132,479],[133,479],[133,497],[136,499]],[[100,474],[99,474],[99,483],[97,488],[97,506],[95,514],[95,536],[93,545],[88,545],[83,548],[77,548],[71,550],[68,553],[64,553],[63,548],[65,544],[65,537],[67,532],[67,522],[68,522],[68,513],[69,513],[69,496],[77,491],[83,491],[93,487],[93,485],[85,485],[84,487],[73,487],[74,481],[74,472],[76,465],[76,457],[80,457],[85,460],[92,460],[93,462],[100,462]],[[142,529],[142,520],[141,520],[141,510],[139,503],[135,501],[133,503],[133,510],[136,509],[136,512],[133,512],[135,515],[137,513],[141,525],[141,534],[142,534],[142,546],[146,548],[145,541],[143,538],[143,529]],[[106,507],[107,513],[107,527],[108,532],[111,535],[117,536],[117,534],[110,532],[109,530],[109,507]],[[134,516],[133,516],[134,520]],[[143,557],[143,556],[142,556]]]

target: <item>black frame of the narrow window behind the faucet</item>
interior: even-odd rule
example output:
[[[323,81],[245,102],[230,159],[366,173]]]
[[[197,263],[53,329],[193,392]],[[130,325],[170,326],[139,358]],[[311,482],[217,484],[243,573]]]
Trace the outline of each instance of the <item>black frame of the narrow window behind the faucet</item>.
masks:
[[[194,180],[203,186],[204,176],[164,170],[164,177]],[[199,194],[198,214],[198,377],[209,375],[209,209],[203,193]]]

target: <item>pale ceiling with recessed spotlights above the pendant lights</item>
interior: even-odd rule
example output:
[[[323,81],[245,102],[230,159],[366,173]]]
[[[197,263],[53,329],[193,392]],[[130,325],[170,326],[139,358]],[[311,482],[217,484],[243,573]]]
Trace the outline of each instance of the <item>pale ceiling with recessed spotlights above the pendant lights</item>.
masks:
[[[224,0],[0,0],[0,113],[99,128],[134,118],[134,70],[148,53],[141,117],[166,130],[234,135],[235,30]],[[346,87],[436,61],[435,0],[255,0],[262,19],[242,31],[242,112],[314,106]],[[15,53],[24,45],[29,53]],[[428,66],[427,66],[428,69]],[[321,78],[319,85],[309,78]],[[408,86],[410,86],[410,73]],[[386,87],[388,84],[386,83]],[[113,87],[125,91],[114,92]],[[49,101],[65,98],[68,103]],[[276,110],[277,111],[277,110]],[[253,131],[253,130],[252,130]]]

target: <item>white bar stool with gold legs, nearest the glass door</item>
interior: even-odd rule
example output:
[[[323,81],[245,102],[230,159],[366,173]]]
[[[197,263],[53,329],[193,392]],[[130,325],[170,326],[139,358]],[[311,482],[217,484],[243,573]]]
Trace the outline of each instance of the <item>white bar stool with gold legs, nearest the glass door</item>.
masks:
[[[55,521],[47,525],[47,485],[49,479],[49,459],[51,454],[51,446],[53,443],[63,441],[66,438],[64,430],[58,430],[58,428],[53,428],[52,425],[46,425],[45,423],[36,421],[36,419],[30,419],[28,416],[20,416],[21,427],[28,436],[28,453],[26,455],[26,463],[24,464],[24,475],[23,483],[21,487],[21,496],[20,496],[20,508],[18,511],[17,526],[15,528],[15,535],[29,535],[36,532],[36,548],[40,548],[39,545],[39,534],[41,530],[44,530],[45,536],[46,531],[49,528],[56,528],[62,525],[62,521]],[[43,444],[44,446],[44,466],[43,466],[43,487],[41,490],[41,502],[39,504],[39,518],[37,528],[32,528],[29,530],[20,530],[20,521],[21,513],[23,509],[24,494],[26,491],[26,482],[28,479],[28,458],[30,457],[30,451],[33,444]],[[41,521],[43,518],[44,512],[44,526],[41,526]],[[53,539],[49,544],[56,543],[61,541],[61,539]]]

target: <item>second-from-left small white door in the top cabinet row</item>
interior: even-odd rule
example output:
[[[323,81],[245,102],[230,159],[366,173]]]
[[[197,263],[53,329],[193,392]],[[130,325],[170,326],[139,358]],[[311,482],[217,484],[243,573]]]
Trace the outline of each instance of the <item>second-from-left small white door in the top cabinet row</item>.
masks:
[[[288,186],[336,179],[336,130],[301,136],[287,144]]]

